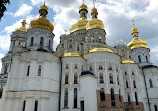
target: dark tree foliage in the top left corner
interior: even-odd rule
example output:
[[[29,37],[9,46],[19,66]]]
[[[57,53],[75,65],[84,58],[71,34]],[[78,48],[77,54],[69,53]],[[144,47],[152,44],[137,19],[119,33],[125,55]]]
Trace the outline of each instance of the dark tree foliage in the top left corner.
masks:
[[[0,20],[4,15],[4,12],[7,10],[6,5],[10,3],[10,0],[0,0]]]

